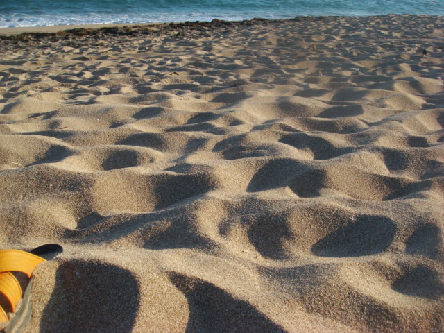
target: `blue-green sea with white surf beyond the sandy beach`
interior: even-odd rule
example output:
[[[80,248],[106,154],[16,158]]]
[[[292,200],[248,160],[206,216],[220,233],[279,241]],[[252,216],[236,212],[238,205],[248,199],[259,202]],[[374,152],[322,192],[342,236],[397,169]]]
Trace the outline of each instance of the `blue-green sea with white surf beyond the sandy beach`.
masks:
[[[0,27],[384,14],[444,15],[444,0],[0,0]]]

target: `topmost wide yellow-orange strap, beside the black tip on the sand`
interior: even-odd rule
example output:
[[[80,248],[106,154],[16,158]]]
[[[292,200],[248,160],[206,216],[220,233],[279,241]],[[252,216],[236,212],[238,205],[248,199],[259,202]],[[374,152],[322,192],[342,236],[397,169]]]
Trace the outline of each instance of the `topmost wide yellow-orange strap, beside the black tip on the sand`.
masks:
[[[35,267],[44,262],[42,257],[21,250],[0,250],[0,273],[22,272],[31,277]]]

